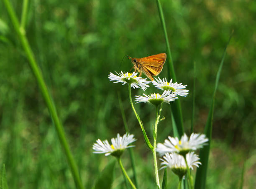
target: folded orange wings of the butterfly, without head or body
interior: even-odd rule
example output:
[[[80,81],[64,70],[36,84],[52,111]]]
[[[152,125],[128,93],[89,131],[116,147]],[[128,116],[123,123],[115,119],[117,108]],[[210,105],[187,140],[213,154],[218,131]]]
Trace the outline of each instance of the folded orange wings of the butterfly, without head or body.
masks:
[[[138,62],[141,63],[144,73],[147,72],[153,76],[157,76],[162,71],[165,60],[166,60],[166,53],[161,53],[157,55],[140,58],[138,59]],[[146,75],[148,76],[148,74]]]

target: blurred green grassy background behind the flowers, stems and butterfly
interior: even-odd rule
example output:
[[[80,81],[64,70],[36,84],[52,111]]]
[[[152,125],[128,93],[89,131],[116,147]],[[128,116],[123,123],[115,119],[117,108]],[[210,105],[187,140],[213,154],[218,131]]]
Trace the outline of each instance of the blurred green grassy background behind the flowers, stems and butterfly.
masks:
[[[12,0],[20,18],[22,1]],[[256,185],[256,1],[161,0],[179,83],[189,96],[180,98],[184,128],[190,131],[193,63],[196,62],[195,132],[203,132],[215,77],[228,41],[216,94],[207,188],[238,188],[246,162],[244,188]],[[145,57],[166,52],[155,1],[29,1],[26,34],[49,86],[79,166],[91,188],[113,157],[92,154],[98,139],[111,139],[124,126],[121,94],[128,126],[135,134],[140,188],[153,189],[154,165],[128,101],[127,86],[109,81],[124,55]],[[129,71],[131,60],[120,68]],[[167,77],[167,65],[159,75]],[[149,88],[146,93],[160,92]],[[142,94],[141,89],[132,95]],[[154,107],[136,104],[150,139]],[[158,141],[172,135],[170,107],[165,104]],[[123,162],[132,174],[128,153]],[[10,189],[74,188],[48,109],[26,55],[0,1],[0,164],[5,163]],[[160,171],[162,179],[163,171]],[[195,174],[194,174],[195,176]],[[160,179],[160,180],[161,180]],[[177,178],[168,171],[168,187]],[[123,188],[116,166],[114,189]]]

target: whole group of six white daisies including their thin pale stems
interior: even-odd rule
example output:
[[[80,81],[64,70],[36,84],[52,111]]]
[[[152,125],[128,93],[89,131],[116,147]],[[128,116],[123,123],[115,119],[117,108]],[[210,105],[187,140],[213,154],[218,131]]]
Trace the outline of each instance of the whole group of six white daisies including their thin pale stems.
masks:
[[[131,88],[141,88],[143,91],[145,91],[149,87],[148,84],[152,83],[156,88],[163,90],[162,94],[151,93],[150,95],[147,95],[143,93],[142,96],[135,96],[136,103],[151,103],[156,106],[156,110],[158,109],[158,106],[163,102],[169,104],[170,102],[175,101],[178,96],[188,95],[189,91],[185,89],[187,85],[182,85],[182,83],[177,82],[173,83],[172,79],[168,82],[166,78],[160,79],[159,77],[155,78],[155,80],[153,81],[148,81],[146,78],[137,76],[137,74],[138,73],[136,72],[129,73],[121,71],[120,73],[116,72],[116,74],[110,73],[108,75],[108,78],[114,83],[122,83],[122,85],[128,84],[131,106],[141,125],[142,122],[140,121],[140,118],[136,113],[133,102],[131,100]],[[159,112],[161,111],[159,110]],[[158,114],[156,113],[156,115]],[[157,128],[159,117],[160,114],[159,116],[156,116],[155,128]],[[141,128],[143,130],[143,126],[141,126]],[[155,130],[154,134],[156,135]],[[145,141],[149,141],[147,136],[145,135],[145,131],[143,132],[143,134],[144,138],[146,137]],[[154,138],[154,140],[155,139],[156,137]],[[123,153],[124,149],[133,147],[129,146],[129,144],[134,141],[136,141],[136,139],[133,138],[133,134],[130,135],[126,133],[123,136],[120,136],[118,134],[117,138],[111,139],[111,145],[107,140],[101,141],[100,139],[98,139],[96,143],[93,144],[92,149],[94,150],[93,153],[105,154],[105,156],[112,155],[120,160],[120,156]],[[187,137],[187,135],[184,134],[180,140],[177,137],[174,138],[168,136],[168,139],[166,139],[163,144],[157,144],[156,149],[154,149],[154,153],[156,153],[157,151],[161,156],[161,169],[169,167],[175,174],[179,176],[180,179],[182,179],[189,169],[193,169],[193,166],[198,167],[201,164],[198,155],[195,154],[194,151],[206,145],[207,141],[208,139],[205,137],[204,134],[192,133],[190,137]],[[149,148],[151,148],[150,145],[151,144],[149,142]],[[154,161],[156,163],[156,158],[154,158]],[[121,163],[120,167],[122,169]],[[157,168],[156,174],[158,174]],[[131,185],[133,186],[132,183]]]

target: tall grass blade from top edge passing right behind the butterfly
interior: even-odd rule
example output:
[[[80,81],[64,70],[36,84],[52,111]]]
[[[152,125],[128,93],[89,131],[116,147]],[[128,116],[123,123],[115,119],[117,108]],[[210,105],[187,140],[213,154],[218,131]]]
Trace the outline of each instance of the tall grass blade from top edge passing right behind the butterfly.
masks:
[[[172,54],[171,54],[171,49],[169,45],[169,40],[168,40],[168,35],[167,35],[167,30],[166,30],[166,24],[164,20],[164,13],[162,9],[162,5],[160,3],[160,0],[156,0],[158,12],[159,12],[159,17],[161,20],[162,28],[164,31],[164,38],[166,42],[166,54],[167,54],[167,68],[168,68],[168,79],[170,80],[172,78],[173,82],[176,82],[176,76],[174,72],[174,66],[173,66],[173,61],[172,61]],[[183,118],[182,118],[182,110],[180,106],[180,101],[179,99],[176,99],[174,102],[171,103],[171,108],[173,112],[173,117],[174,121],[177,126],[177,131],[179,133],[179,136],[182,136],[184,133],[184,128],[183,128]]]

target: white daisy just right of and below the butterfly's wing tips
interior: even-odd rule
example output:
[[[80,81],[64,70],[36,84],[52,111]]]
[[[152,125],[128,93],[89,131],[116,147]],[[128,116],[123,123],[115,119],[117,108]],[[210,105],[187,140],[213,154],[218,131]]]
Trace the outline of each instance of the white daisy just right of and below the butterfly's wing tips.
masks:
[[[176,93],[179,96],[187,96],[188,95],[189,90],[183,89],[183,88],[186,88],[187,85],[182,85],[182,83],[178,84],[177,82],[172,83],[172,79],[170,82],[167,82],[166,78],[161,80],[158,77],[158,79],[155,78],[155,80],[152,81],[152,83],[156,88],[160,88],[165,91],[170,90],[171,92]]]

